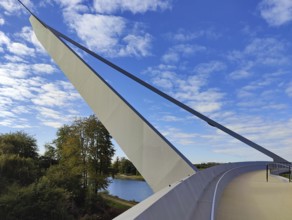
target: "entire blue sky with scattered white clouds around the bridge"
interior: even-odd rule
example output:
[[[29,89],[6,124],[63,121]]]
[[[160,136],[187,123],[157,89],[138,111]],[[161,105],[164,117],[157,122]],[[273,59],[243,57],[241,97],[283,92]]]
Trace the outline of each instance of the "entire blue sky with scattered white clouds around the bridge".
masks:
[[[23,2],[51,27],[292,160],[292,0]],[[0,0],[0,133],[27,132],[43,153],[58,128],[93,111],[28,18],[16,0]],[[72,48],[191,162],[270,160]]]

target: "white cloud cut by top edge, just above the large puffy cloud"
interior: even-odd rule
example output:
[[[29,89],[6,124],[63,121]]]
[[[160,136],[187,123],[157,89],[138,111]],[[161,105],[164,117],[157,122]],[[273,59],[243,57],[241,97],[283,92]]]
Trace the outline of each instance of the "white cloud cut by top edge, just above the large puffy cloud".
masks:
[[[112,14],[117,11],[130,11],[134,14],[147,11],[166,10],[171,7],[169,0],[98,0],[94,1],[94,9],[98,13]]]

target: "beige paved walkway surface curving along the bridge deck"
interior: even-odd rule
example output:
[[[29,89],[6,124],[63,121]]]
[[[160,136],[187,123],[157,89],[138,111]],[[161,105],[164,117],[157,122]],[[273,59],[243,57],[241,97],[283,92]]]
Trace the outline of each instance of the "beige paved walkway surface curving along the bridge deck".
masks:
[[[291,220],[292,182],[265,171],[235,178],[218,204],[216,220]]]

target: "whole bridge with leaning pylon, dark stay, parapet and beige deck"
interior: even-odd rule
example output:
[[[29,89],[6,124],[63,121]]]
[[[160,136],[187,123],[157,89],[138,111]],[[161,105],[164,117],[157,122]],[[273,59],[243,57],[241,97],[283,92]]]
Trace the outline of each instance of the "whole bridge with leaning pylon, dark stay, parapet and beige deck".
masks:
[[[275,171],[272,164],[286,163],[291,173],[284,158],[133,76],[48,26],[33,13],[30,22],[38,40],[155,192],[116,217],[117,220],[291,219],[292,184],[268,172]],[[198,171],[66,42],[272,160],[227,163]],[[278,173],[283,170],[278,169]]]

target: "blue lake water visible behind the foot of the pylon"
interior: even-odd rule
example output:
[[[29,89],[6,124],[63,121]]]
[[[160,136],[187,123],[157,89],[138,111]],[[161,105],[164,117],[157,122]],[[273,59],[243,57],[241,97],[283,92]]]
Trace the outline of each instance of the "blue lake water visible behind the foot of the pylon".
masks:
[[[125,200],[141,202],[153,194],[145,181],[111,179],[108,187],[109,194]]]

